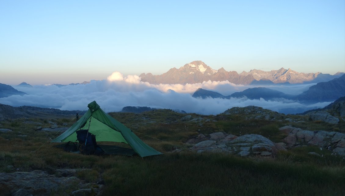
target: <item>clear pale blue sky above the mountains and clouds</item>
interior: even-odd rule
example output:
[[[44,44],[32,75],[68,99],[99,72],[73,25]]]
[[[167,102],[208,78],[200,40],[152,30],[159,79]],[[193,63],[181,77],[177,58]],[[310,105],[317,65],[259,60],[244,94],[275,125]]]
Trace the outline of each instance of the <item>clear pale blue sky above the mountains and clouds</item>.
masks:
[[[162,74],[201,60],[238,73],[345,72],[345,3],[0,0],[0,83]]]

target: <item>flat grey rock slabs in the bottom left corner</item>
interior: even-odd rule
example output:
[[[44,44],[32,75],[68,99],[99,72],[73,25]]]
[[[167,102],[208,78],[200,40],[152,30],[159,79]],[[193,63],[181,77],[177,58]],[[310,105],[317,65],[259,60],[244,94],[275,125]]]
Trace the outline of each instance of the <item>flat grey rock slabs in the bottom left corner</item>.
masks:
[[[63,171],[62,169],[57,171],[57,175],[49,175],[42,170],[0,173],[0,193],[4,196],[101,195],[102,184],[86,183],[74,176],[76,171]],[[71,192],[71,190],[73,191]]]

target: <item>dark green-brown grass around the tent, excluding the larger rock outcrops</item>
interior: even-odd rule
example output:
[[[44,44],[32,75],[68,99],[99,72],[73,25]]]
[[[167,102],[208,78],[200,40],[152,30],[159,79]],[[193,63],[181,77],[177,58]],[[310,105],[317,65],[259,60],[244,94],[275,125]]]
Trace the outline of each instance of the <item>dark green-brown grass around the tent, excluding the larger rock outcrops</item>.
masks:
[[[34,131],[37,125],[24,123],[34,121],[49,127],[47,120],[16,119],[0,122],[1,128],[13,130],[0,133],[0,172],[44,170],[55,174],[58,168],[91,168],[78,172],[78,177],[87,182],[101,178],[105,185],[104,195],[345,195],[345,160],[327,150],[302,146],[278,152],[273,158],[239,157],[221,153],[198,154],[189,151],[191,145],[184,143],[199,133],[213,132],[261,134],[280,142],[286,135],[278,128],[289,124],[305,130],[342,132],[344,121],[329,125],[308,119],[303,123],[292,123],[245,120],[236,115],[190,114],[203,121],[188,122],[180,120],[186,114],[171,110],[109,115],[164,154],[140,158],[68,153],[53,148],[58,143],[47,142],[61,133]],[[71,120],[72,117],[50,119],[60,126]],[[171,152],[176,148],[182,151]],[[73,190],[72,186],[70,190]],[[70,190],[57,195],[68,195]]]

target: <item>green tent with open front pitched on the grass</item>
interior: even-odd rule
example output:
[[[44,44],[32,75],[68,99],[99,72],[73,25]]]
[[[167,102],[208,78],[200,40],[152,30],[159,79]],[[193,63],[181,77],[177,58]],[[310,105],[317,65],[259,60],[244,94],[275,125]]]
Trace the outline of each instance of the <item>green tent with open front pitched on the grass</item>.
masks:
[[[141,157],[162,154],[142,142],[129,128],[105,113],[96,101],[88,104],[89,110],[68,130],[51,142],[75,142],[76,131],[89,129],[96,135],[96,141],[124,142]]]

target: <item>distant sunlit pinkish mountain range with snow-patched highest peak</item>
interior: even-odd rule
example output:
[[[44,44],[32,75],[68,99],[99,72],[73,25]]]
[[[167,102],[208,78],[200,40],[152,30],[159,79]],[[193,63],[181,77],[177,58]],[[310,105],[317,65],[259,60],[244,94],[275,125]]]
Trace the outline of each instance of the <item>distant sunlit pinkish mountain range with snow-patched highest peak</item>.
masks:
[[[340,77],[344,73],[336,73],[334,75],[323,73],[298,73],[292,69],[280,68],[265,72],[253,69],[250,72],[243,71],[238,74],[235,71],[226,71],[223,67],[215,70],[206,65],[202,61],[193,61],[177,68],[171,68],[167,73],[162,75],[152,75],[151,73],[142,73],[141,81],[150,84],[194,84],[203,81],[225,81],[228,80],[233,84],[242,85],[267,85],[267,84],[302,84],[302,83],[318,83],[329,81]]]

